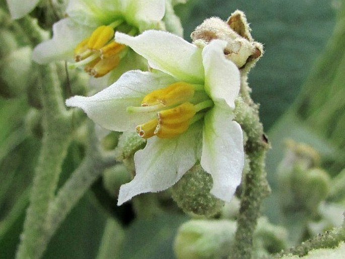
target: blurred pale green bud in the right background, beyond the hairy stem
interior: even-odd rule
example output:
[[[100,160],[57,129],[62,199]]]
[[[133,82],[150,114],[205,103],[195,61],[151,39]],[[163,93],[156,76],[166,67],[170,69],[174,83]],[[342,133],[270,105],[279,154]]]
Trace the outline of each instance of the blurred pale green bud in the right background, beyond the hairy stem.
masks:
[[[285,212],[317,212],[330,189],[328,174],[317,168],[319,155],[310,146],[290,140],[285,158],[279,165],[278,180]]]

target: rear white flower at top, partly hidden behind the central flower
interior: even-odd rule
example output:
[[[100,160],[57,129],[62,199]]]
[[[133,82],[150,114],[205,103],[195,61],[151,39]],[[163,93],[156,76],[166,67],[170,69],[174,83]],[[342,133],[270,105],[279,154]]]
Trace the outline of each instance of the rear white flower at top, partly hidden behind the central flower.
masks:
[[[114,32],[136,35],[148,29],[174,27],[182,33],[179,19],[168,7],[169,0],[71,0],[67,18],[53,25],[52,39],[36,46],[33,59],[49,63],[74,57],[70,67],[83,67],[95,78],[115,68],[112,78],[116,79],[125,71],[145,69],[146,62],[113,40]],[[169,26],[163,19],[169,20]]]

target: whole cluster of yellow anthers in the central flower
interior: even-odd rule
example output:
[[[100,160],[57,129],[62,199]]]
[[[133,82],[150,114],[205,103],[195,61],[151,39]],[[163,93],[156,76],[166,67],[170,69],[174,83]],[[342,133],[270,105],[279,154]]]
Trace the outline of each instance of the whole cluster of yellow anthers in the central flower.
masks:
[[[146,95],[141,107],[127,107],[128,112],[157,111],[157,117],[138,125],[136,132],[144,139],[173,138],[185,132],[204,116],[201,110],[213,106],[213,101],[205,98],[194,105],[191,101],[195,102],[195,91],[203,92],[203,86],[177,82]]]

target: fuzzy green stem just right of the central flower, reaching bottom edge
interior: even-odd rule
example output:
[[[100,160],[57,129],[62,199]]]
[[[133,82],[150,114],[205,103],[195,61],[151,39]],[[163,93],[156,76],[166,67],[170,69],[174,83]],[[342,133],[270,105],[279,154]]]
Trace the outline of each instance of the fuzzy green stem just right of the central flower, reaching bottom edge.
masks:
[[[242,194],[237,231],[230,258],[249,259],[252,254],[253,232],[259,217],[260,205],[270,191],[265,172],[265,154],[269,144],[263,134],[258,106],[249,96],[246,77],[242,78],[241,95],[236,100],[235,120],[247,135],[245,153],[249,158],[249,171],[243,175]]]

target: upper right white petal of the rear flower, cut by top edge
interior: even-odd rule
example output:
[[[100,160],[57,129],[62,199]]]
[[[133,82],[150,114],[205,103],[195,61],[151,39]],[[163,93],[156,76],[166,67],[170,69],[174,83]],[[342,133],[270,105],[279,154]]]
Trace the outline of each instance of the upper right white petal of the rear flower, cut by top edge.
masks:
[[[130,0],[125,15],[137,21],[160,21],[165,13],[165,0]]]

